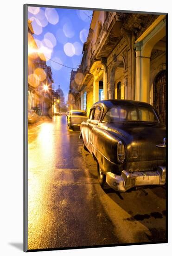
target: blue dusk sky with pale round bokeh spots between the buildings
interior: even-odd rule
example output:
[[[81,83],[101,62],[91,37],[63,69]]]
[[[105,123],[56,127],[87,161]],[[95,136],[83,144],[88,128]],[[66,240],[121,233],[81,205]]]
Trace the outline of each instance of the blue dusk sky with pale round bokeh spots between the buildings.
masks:
[[[54,89],[60,84],[66,101],[71,68],[53,61],[68,67],[78,67],[82,60],[83,43],[89,33],[92,11],[28,7],[28,18],[32,20],[34,38],[45,54],[47,66],[51,66]]]

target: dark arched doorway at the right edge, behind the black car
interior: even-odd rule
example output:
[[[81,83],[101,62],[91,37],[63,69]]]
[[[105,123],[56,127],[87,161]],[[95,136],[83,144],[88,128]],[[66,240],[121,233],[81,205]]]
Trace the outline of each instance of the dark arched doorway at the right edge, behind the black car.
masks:
[[[160,71],[153,83],[153,107],[166,122],[166,70]]]

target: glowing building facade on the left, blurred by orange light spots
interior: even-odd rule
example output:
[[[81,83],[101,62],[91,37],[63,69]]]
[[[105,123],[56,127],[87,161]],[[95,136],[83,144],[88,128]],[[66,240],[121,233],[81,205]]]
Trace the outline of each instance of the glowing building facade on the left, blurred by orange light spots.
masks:
[[[38,52],[32,22],[28,20],[28,109],[39,107],[43,115],[52,115],[52,72],[44,54]]]

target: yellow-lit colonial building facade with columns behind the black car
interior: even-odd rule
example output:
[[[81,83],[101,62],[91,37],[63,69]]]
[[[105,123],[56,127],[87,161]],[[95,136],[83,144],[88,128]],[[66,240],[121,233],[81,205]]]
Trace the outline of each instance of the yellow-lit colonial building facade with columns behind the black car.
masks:
[[[166,15],[94,11],[72,80],[79,96],[70,97],[87,114],[96,101],[131,99],[152,104],[165,121]]]

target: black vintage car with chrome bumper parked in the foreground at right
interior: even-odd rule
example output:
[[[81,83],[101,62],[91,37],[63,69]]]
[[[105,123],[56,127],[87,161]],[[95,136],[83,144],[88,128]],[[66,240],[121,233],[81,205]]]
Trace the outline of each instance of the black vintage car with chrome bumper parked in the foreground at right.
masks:
[[[166,126],[148,103],[96,102],[81,123],[84,148],[97,162],[98,181],[121,192],[166,182]]]

